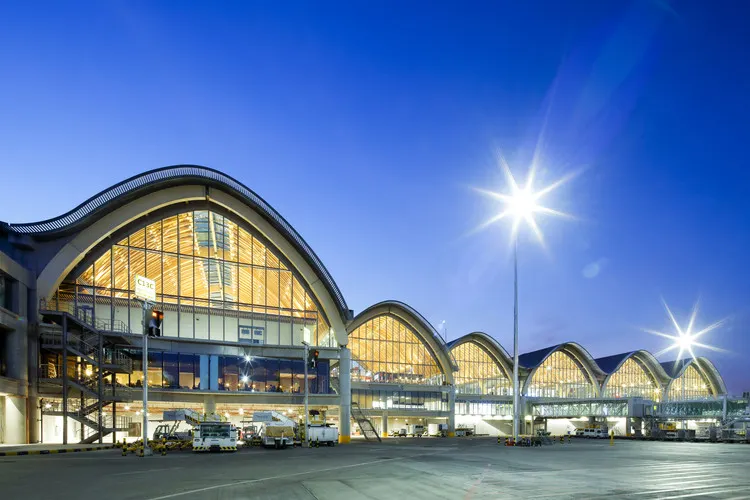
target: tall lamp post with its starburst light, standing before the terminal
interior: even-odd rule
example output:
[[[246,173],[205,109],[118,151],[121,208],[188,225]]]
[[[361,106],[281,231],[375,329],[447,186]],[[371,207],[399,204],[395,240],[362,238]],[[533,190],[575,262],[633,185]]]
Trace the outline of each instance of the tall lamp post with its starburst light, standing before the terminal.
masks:
[[[513,219],[513,227],[511,230],[511,242],[513,245],[513,441],[517,442],[520,427],[521,405],[521,389],[518,377],[518,230],[521,222],[526,222],[536,235],[539,242],[544,245],[544,237],[534,219],[534,215],[541,213],[555,217],[571,218],[571,216],[564,212],[541,205],[541,198],[572,179],[577,172],[562,177],[544,188],[535,190],[533,186],[535,168],[533,165],[529,170],[529,175],[526,178],[525,185],[520,187],[516,182],[516,179],[513,177],[513,174],[510,172],[508,164],[502,158],[501,164],[505,171],[507,183],[510,186],[510,193],[504,194],[477,189],[478,192],[500,200],[505,205],[504,210],[482,224],[479,229],[494,224],[506,217],[511,217]]]

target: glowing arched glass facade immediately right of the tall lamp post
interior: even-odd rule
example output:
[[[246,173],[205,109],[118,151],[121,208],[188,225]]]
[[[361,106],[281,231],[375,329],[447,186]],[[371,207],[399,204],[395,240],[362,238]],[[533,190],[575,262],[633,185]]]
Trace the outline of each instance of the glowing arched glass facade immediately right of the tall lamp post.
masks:
[[[593,398],[596,389],[567,353],[555,351],[534,372],[526,395],[537,398]]]

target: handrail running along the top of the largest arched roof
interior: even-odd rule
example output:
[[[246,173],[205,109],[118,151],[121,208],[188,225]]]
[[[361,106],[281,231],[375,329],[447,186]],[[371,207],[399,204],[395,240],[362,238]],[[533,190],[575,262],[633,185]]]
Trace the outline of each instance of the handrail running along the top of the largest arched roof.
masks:
[[[346,300],[339,290],[336,283],[333,281],[330,273],[323,265],[323,262],[315,254],[313,249],[307,244],[307,242],[300,236],[300,234],[292,227],[281,214],[279,214],[271,205],[268,204],[263,198],[258,196],[250,188],[237,181],[236,179],[214,170],[212,168],[203,167],[199,165],[174,165],[169,167],[157,168],[150,170],[142,174],[134,175],[128,179],[125,179],[114,186],[107,188],[98,194],[92,196],[88,200],[78,205],[73,210],[54,217],[51,219],[29,222],[29,223],[17,223],[8,224],[8,228],[16,233],[21,234],[44,234],[44,233],[55,233],[63,231],[73,226],[83,219],[93,214],[94,212],[102,209],[108,203],[115,199],[132,193],[136,190],[146,188],[150,185],[160,184],[169,181],[184,181],[185,179],[193,178],[200,180],[207,180],[216,182],[223,186],[226,186],[233,191],[239,193],[247,201],[252,203],[255,207],[263,212],[263,215],[270,218],[276,223],[283,232],[289,236],[294,243],[302,250],[302,252],[312,261],[314,267],[316,267],[321,274],[321,277],[325,281],[329,290],[332,292],[337,305],[340,308],[342,315],[346,316],[349,314],[349,308],[346,305]]]

